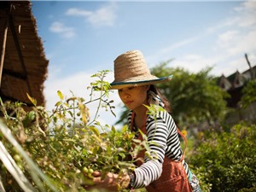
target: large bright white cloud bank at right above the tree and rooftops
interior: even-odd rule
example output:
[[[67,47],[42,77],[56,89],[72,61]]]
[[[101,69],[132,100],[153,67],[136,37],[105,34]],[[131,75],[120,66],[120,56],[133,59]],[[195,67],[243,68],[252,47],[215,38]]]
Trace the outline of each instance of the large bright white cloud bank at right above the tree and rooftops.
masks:
[[[254,66],[256,63],[256,2],[247,1],[241,3],[235,9],[236,16],[220,20],[215,26],[202,30],[200,36],[190,37],[187,40],[177,42],[172,46],[166,46],[155,56],[165,58],[165,55],[172,55],[171,50],[183,49],[184,47],[196,43],[196,46],[207,47],[206,50],[186,52],[179,55],[172,61],[172,67],[184,67],[190,72],[197,73],[201,69],[213,67],[214,75],[230,75],[236,70],[243,72],[247,70],[247,62],[244,54],[250,55],[250,61]],[[247,26],[247,27],[245,27]],[[213,39],[212,44],[205,44],[204,39]],[[192,54],[193,53],[193,54]],[[153,58],[153,56],[152,56]]]

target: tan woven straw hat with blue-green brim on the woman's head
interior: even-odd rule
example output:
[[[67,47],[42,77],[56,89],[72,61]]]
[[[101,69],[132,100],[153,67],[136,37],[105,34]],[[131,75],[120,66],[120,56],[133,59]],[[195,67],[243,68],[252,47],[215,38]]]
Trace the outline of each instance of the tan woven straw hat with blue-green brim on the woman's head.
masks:
[[[114,80],[110,84],[111,90],[124,87],[158,84],[172,79],[172,75],[157,78],[149,71],[143,53],[139,50],[127,51],[119,55],[114,61]]]

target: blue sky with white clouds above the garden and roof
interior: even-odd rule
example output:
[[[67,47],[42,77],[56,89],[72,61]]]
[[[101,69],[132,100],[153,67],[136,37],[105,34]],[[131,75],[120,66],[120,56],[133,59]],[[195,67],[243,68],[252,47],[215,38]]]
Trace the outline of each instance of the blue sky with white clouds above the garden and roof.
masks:
[[[90,75],[113,70],[113,60],[131,49],[140,49],[149,67],[173,59],[170,67],[213,67],[216,76],[247,70],[245,53],[256,64],[256,1],[32,1],[32,12],[49,60],[49,109],[57,90],[87,98]],[[119,106],[117,93],[112,98]],[[104,112],[100,118],[117,120]]]

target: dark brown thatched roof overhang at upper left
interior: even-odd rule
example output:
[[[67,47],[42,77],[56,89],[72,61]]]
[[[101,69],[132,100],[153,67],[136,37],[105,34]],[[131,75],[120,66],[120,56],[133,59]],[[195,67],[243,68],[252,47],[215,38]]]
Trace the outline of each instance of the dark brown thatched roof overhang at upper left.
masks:
[[[45,58],[29,1],[0,2],[0,49],[1,98],[25,102],[29,106],[28,93],[38,105],[44,105],[44,80],[49,61]]]

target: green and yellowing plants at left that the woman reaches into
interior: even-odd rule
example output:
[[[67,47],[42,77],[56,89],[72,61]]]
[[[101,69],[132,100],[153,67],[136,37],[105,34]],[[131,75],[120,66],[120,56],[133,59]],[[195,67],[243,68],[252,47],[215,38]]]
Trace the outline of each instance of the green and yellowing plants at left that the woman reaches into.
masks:
[[[58,91],[60,101],[52,113],[37,106],[30,96],[34,107],[28,112],[22,108],[24,104],[21,102],[2,102],[4,123],[26,154],[49,178],[41,183],[33,180],[35,173],[30,172],[31,167],[24,155],[0,131],[0,142],[4,143],[35,189],[52,191],[49,187],[52,183],[56,191],[85,191],[83,186],[91,183],[93,171],[124,174],[134,169],[133,157],[147,146],[146,142],[134,140],[134,134],[127,126],[117,131],[113,126],[101,125],[96,118],[90,120],[89,108],[86,107],[90,102],[99,102],[97,110],[112,110],[112,101],[106,98],[109,84],[103,81],[106,73],[103,71],[93,76],[100,80],[91,84],[88,102],[76,96],[65,98]],[[95,90],[100,94],[98,98],[93,97]],[[132,149],[132,143],[137,143],[135,149]],[[20,191],[20,186],[8,172],[8,165],[0,165],[0,184],[2,180],[7,191]]]

